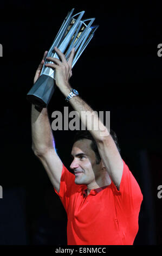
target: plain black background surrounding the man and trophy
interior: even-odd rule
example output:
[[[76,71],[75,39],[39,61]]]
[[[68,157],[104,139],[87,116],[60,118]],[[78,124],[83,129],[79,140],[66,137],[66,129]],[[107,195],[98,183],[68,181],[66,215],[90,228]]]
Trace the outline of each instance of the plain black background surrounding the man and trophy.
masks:
[[[31,150],[31,106],[26,95],[43,53],[69,10],[85,10],[99,28],[73,69],[70,83],[94,110],[111,111],[121,156],[144,200],[134,245],[160,245],[162,185],[160,2],[1,1],[0,244],[66,245],[66,213]],[[48,109],[68,106],[59,89]],[[72,110],[72,109],[71,109]],[[70,106],[69,106],[70,111]],[[55,131],[69,168],[72,131]]]

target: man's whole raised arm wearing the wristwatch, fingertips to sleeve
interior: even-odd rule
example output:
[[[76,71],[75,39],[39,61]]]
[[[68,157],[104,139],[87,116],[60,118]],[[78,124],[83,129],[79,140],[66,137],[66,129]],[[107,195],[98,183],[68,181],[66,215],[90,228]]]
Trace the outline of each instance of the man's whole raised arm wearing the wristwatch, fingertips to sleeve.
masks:
[[[47,64],[47,66],[50,66],[56,70],[56,85],[60,88],[64,96],[67,97],[71,89],[67,79],[67,74],[69,74],[70,66],[72,65],[74,50],[72,51],[68,62],[66,61],[64,54],[59,49],[55,48],[55,51],[60,56],[61,61],[59,59],[49,57],[48,59],[53,61],[54,64],[50,63]],[[107,172],[119,190],[123,162],[112,136],[107,128],[102,124],[98,115],[94,114],[93,109],[90,108],[80,96],[72,97],[72,99],[69,100],[69,103],[72,105],[75,111],[79,113],[82,123],[87,127],[94,137]],[[83,111],[87,112],[87,115],[82,115],[81,113]],[[94,127],[100,127],[100,129],[96,130]]]

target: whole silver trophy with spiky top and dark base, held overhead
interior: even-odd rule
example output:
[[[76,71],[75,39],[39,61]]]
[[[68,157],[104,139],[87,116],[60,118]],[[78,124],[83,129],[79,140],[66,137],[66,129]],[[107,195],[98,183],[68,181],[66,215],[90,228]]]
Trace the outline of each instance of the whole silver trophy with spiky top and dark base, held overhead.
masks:
[[[66,19],[63,21],[59,33],[56,35],[56,38],[47,53],[47,57],[59,59],[59,56],[57,56],[54,50],[54,47],[56,46],[62,53],[64,53],[66,60],[68,61],[72,48],[75,47],[72,68],[89,44],[89,41],[93,38],[94,32],[99,27],[98,25],[92,26],[95,18],[81,20],[85,11],[81,11],[72,16],[73,11],[74,8],[68,13]],[[53,62],[45,59],[40,77],[27,94],[27,100],[40,107],[47,107],[56,88],[55,70],[45,66],[46,63]]]

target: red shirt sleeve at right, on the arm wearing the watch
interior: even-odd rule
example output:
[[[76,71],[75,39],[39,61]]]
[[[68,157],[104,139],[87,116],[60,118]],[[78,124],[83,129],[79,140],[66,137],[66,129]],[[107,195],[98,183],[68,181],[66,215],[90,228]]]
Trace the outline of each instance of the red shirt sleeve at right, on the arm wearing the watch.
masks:
[[[114,185],[115,198],[119,208],[124,209],[125,214],[130,214],[135,210],[140,210],[143,196],[137,180],[135,180],[124,160],[122,161],[124,163],[124,167],[119,191]]]

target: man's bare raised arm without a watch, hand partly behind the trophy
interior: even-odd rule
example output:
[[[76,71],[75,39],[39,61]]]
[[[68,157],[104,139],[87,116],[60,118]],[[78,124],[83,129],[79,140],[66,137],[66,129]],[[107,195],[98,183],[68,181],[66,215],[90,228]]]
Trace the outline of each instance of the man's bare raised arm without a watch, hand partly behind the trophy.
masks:
[[[44,53],[43,60],[38,66],[34,83],[40,76],[46,54],[47,52]],[[57,192],[59,192],[62,162],[55,150],[55,143],[48,118],[47,108],[36,109],[34,105],[31,106],[31,135],[32,149],[46,169],[51,183]]]

